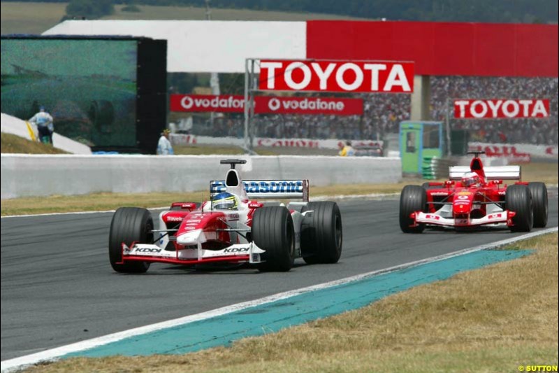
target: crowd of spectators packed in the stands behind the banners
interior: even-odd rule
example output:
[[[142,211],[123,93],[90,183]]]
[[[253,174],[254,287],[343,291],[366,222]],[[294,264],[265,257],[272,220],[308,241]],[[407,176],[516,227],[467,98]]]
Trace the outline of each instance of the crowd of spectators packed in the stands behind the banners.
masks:
[[[452,129],[466,129],[471,141],[489,143],[558,143],[558,79],[432,76],[430,113],[444,122],[449,110]],[[382,139],[409,120],[410,94],[354,94],[363,99],[363,115],[256,115],[254,136],[298,139]],[[451,99],[549,99],[549,118],[458,120]],[[197,134],[242,137],[242,115],[224,115],[212,125],[196,126]],[[201,133],[205,132],[205,133]]]

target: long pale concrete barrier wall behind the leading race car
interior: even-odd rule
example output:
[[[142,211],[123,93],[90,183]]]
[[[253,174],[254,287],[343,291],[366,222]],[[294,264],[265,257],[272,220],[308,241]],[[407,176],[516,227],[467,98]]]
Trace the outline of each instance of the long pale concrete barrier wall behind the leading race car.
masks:
[[[92,192],[190,192],[222,180],[231,155],[1,155],[1,198]],[[256,156],[244,179],[303,179],[313,186],[400,181],[400,158]]]

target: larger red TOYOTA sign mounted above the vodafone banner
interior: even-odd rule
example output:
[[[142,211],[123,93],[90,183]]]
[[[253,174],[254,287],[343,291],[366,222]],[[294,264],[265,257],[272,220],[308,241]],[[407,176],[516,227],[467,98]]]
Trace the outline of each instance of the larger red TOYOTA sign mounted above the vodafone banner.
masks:
[[[261,90],[412,93],[413,62],[263,59]]]

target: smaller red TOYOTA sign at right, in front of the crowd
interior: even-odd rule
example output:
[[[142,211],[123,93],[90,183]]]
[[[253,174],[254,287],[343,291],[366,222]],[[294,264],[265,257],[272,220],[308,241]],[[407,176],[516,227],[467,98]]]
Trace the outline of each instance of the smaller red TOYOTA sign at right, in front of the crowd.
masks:
[[[454,118],[546,118],[549,99],[455,99]]]

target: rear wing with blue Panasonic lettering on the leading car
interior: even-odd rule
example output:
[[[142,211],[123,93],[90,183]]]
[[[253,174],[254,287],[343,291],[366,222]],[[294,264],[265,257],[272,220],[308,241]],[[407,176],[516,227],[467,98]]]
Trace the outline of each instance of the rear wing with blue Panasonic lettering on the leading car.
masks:
[[[309,202],[308,180],[244,180],[242,184],[251,199],[287,198]],[[210,197],[225,191],[225,181],[210,181]]]

